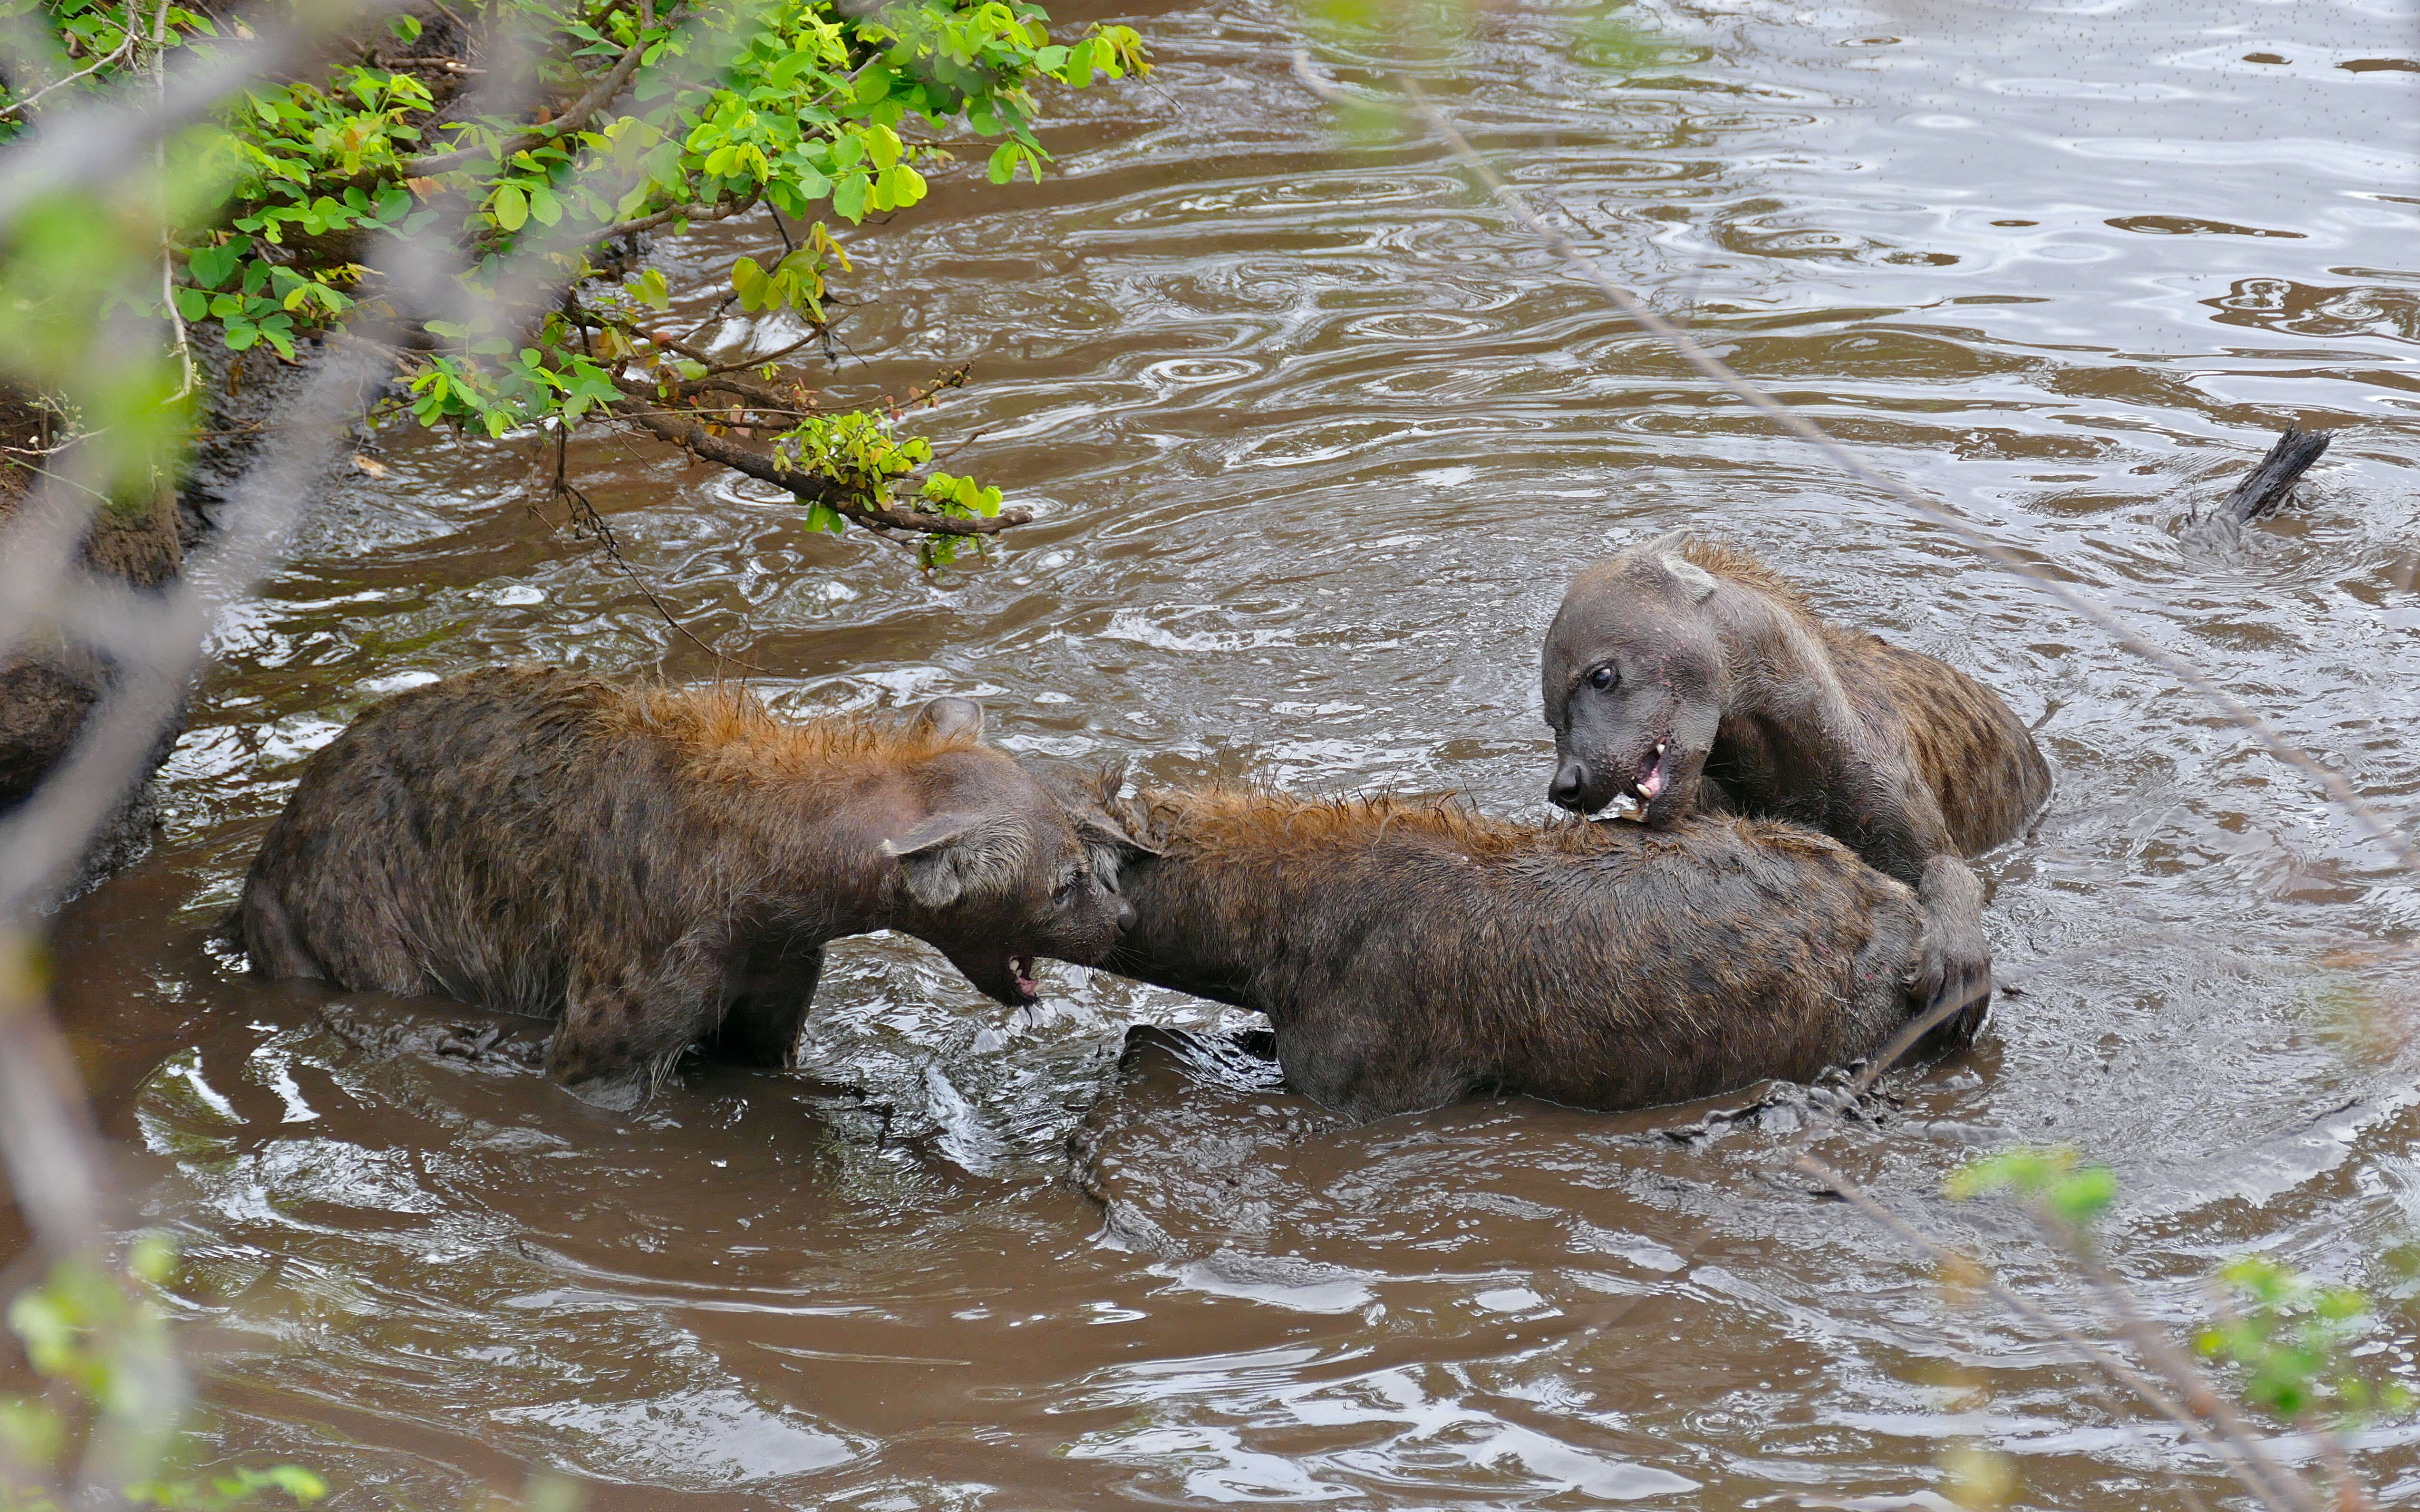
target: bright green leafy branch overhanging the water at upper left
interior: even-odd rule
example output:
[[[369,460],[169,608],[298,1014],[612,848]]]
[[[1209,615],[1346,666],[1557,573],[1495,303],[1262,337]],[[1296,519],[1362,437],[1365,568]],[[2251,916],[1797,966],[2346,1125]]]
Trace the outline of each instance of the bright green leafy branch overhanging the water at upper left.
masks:
[[[431,0],[433,2],[433,0]],[[36,131],[51,90],[109,90],[165,48],[208,51],[218,22],[162,7],[60,0],[44,12],[90,63],[24,97],[0,87],[0,140]],[[162,317],[230,351],[300,358],[361,314],[392,322],[399,288],[373,269],[382,240],[443,237],[474,252],[467,288],[496,293],[508,261],[552,269],[540,314],[486,327],[424,322],[394,348],[404,392],[385,409],[489,438],[612,423],[791,491],[811,527],[927,537],[927,566],[1031,515],[999,489],[932,467],[910,406],[825,411],[796,353],[830,348],[842,235],[922,203],[951,169],[944,140],[995,138],[985,177],[1041,179],[1036,90],[1150,70],[1140,36],[1094,24],[1055,41],[1028,0],[496,0],[482,36],[443,5],[390,19],[411,56],[375,46],[312,77],[254,82],[206,128],[167,145],[191,201],[169,227]],[[486,34],[515,31],[540,99],[494,114],[457,97]],[[150,36],[157,34],[157,41]],[[467,99],[467,104],[465,104]],[[607,278],[632,237],[770,213],[784,252],[724,271],[738,317],[777,334],[770,358],[724,360],[663,334],[658,271]],[[963,370],[951,385],[961,385]],[[929,402],[932,394],[920,394]]]

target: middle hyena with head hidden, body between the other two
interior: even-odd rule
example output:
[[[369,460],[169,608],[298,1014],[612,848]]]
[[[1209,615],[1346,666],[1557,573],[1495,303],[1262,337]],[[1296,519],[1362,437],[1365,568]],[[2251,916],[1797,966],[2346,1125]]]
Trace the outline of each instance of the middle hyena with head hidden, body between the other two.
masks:
[[[1091,801],[1162,854],[1120,859],[1135,924],[1104,968],[1268,1014],[1287,1084],[1355,1118],[1813,1079],[1907,1021],[1914,898],[1810,830],[1116,789]]]

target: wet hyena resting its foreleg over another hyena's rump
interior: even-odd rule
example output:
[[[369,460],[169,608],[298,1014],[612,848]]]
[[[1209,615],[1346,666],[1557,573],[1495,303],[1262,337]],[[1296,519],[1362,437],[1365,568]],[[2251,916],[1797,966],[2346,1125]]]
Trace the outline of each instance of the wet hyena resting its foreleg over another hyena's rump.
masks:
[[[1982,885],[1960,856],[2050,796],[2033,735],[1958,668],[1827,624],[1771,569],[1660,537],[1583,571],[1539,668],[1575,813],[1617,798],[1650,827],[1692,810],[1798,820],[1844,839],[1926,910],[1924,1002],[1989,1002]]]

